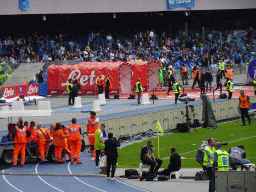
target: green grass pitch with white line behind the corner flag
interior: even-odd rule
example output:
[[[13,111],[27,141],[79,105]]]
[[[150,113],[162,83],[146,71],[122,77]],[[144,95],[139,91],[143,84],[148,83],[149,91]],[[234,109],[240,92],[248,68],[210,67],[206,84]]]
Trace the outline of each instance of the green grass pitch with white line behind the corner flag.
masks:
[[[222,149],[228,151],[230,148],[243,145],[246,152],[246,159],[251,163],[256,164],[256,120],[252,119],[251,125],[241,126],[241,120],[230,121],[218,124],[217,129],[193,129],[191,133],[173,133],[170,135],[160,136],[159,148],[160,159],[163,160],[161,168],[166,168],[169,164],[171,155],[170,148],[175,147],[177,153],[182,157],[182,168],[200,168],[196,162],[195,155],[197,149],[209,137],[217,138],[219,142],[228,142],[227,146],[222,146]],[[153,153],[158,157],[158,140],[153,138],[154,142]],[[118,150],[118,168],[138,168],[140,160],[140,149],[146,145],[147,140],[139,143],[128,145]]]

